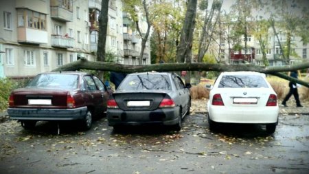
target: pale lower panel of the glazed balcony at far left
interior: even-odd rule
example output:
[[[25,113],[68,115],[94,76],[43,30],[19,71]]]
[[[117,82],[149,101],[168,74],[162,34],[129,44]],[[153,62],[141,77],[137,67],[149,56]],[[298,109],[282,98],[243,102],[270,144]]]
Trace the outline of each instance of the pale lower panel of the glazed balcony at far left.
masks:
[[[17,28],[18,42],[24,44],[48,43],[48,33],[45,30],[33,28]]]

